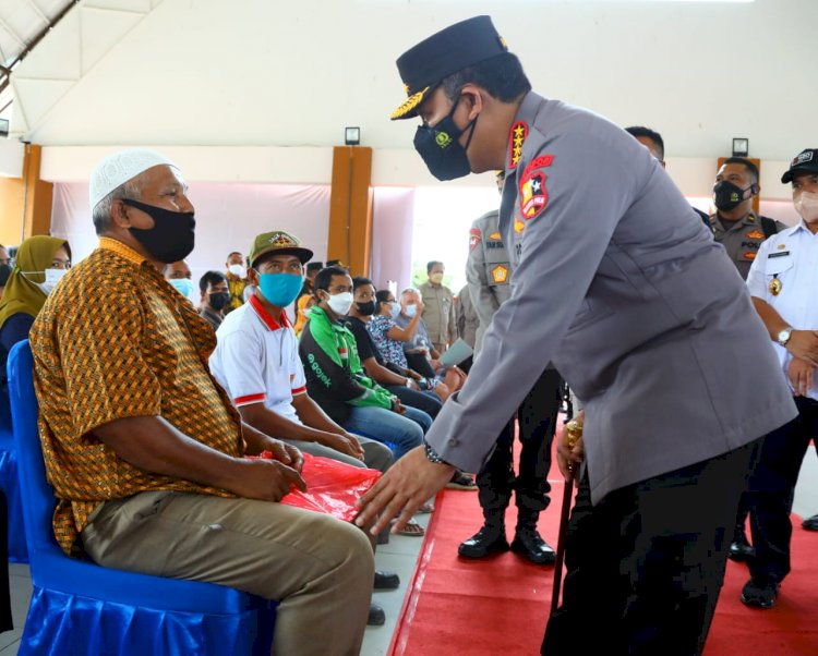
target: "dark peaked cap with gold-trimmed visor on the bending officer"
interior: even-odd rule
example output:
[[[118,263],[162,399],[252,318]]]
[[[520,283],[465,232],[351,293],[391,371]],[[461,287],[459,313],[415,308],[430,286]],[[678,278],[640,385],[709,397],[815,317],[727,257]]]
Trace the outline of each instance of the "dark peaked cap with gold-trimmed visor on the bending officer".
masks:
[[[433,34],[396,62],[408,98],[392,112],[392,120],[417,117],[418,106],[444,77],[507,51],[490,16],[474,16]]]

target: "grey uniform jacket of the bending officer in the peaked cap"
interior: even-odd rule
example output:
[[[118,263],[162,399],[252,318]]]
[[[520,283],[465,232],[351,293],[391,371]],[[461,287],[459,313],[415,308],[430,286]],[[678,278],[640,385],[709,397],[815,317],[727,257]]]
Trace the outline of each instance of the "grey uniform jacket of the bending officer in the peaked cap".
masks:
[[[741,277],[613,123],[529,93],[509,135],[501,233],[514,292],[426,436],[446,462],[480,471],[550,361],[585,402],[593,503],[795,416]]]

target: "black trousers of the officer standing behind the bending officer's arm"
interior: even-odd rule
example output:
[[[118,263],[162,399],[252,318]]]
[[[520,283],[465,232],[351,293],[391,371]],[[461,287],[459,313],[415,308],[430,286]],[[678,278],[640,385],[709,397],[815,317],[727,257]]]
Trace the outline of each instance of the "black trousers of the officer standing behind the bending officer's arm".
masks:
[[[562,399],[562,379],[555,369],[545,369],[517,410],[522,445],[519,471],[514,473],[514,420],[497,437],[497,446],[477,475],[478,500],[486,519],[496,518],[508,507],[512,491],[518,517],[531,517],[548,508],[551,442]]]

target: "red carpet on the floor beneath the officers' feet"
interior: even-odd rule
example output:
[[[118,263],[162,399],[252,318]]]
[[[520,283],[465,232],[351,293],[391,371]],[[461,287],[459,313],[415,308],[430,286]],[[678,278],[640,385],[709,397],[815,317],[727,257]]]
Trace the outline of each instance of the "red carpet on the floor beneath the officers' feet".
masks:
[[[540,531],[556,548],[562,482],[552,482],[552,502]],[[510,531],[515,509],[506,514]],[[818,535],[793,530],[793,572],[779,604],[753,610],[738,602],[747,568],[729,562],[705,656],[802,656],[818,654]],[[510,551],[464,561],[458,544],[481,525],[477,493],[444,490],[437,497],[418,567],[395,630],[392,656],[539,654],[551,605],[553,567]]]

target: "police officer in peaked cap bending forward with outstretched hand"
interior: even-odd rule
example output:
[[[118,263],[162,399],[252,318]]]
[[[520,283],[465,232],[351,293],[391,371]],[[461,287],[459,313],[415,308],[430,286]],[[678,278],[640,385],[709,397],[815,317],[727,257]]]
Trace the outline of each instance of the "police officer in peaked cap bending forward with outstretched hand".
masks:
[[[796,413],[741,276],[638,142],[530,90],[488,16],[398,70],[409,97],[393,117],[423,121],[414,146],[435,177],[505,169],[514,289],[426,445],[357,522],[383,510],[373,530],[399,527],[455,466],[480,471],[553,362],[585,403],[585,464],[542,653],[596,653],[603,635],[610,654],[699,654],[759,438]]]

